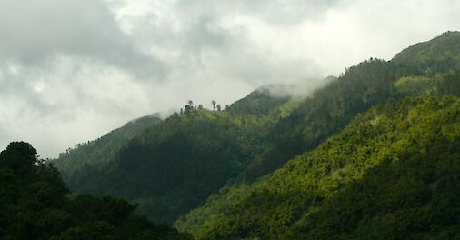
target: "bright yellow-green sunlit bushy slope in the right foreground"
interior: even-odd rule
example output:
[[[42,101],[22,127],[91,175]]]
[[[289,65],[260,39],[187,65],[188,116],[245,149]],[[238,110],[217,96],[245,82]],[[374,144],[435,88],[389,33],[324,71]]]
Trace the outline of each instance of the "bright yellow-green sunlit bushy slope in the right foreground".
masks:
[[[453,96],[375,106],[315,151],[246,187],[237,203],[193,233],[198,239],[458,236],[459,113]]]

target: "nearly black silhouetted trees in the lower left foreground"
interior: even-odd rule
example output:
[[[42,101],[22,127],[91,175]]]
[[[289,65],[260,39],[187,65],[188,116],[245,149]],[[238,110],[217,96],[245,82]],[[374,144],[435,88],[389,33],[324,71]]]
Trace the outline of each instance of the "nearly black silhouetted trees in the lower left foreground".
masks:
[[[187,239],[113,197],[70,199],[57,169],[24,142],[0,153],[1,239]]]

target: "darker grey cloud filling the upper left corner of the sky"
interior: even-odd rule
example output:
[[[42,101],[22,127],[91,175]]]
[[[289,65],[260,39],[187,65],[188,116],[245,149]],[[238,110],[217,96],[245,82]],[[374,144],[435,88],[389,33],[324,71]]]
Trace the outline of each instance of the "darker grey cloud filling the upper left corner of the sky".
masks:
[[[24,65],[76,55],[137,77],[163,74],[163,65],[136,49],[101,0],[0,0],[0,54]]]

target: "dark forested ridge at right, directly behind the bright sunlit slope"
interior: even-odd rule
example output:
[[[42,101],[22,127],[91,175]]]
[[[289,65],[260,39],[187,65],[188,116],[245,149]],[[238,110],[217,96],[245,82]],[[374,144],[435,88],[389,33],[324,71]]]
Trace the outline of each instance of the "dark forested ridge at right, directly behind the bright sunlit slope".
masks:
[[[314,149],[358,113],[389,97],[417,94],[434,86],[440,93],[460,93],[455,80],[460,71],[459,41],[460,33],[447,32],[405,49],[392,61],[371,58],[347,68],[344,75],[318,89],[273,127],[269,134],[273,144],[256,157],[239,179],[251,183],[273,172],[295,155]],[[405,86],[395,91],[395,80]],[[421,89],[424,87],[427,89]]]

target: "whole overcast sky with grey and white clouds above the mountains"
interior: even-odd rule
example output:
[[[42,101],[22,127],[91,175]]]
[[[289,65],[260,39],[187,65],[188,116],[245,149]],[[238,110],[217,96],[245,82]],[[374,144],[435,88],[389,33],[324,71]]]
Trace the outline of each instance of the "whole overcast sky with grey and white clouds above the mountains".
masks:
[[[0,148],[56,157],[188,100],[315,87],[459,28],[456,0],[0,0]]]

